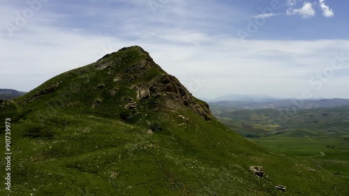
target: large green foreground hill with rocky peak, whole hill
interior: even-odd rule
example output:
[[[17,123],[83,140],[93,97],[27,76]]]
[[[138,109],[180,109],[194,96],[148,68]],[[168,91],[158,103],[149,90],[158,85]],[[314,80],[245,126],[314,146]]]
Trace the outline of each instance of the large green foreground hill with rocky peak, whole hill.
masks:
[[[349,194],[312,159],[269,152],[218,122],[137,46],[4,101],[8,118],[11,192],[0,195]]]

